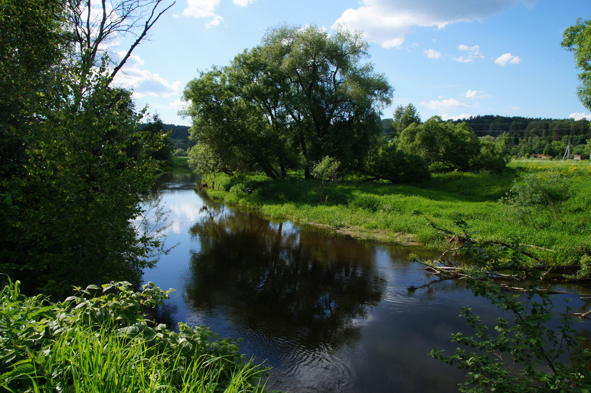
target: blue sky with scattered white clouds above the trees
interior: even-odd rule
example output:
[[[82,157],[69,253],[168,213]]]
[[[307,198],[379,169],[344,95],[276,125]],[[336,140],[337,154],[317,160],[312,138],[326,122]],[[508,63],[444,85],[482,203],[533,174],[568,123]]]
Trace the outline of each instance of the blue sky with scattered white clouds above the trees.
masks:
[[[342,24],[364,32],[369,61],[395,89],[382,117],[413,103],[423,120],[591,119],[573,55],[560,47],[564,28],[590,17],[589,0],[177,0],[115,82],[165,123],[190,125],[177,112],[199,71],[229,64],[277,25]],[[126,50],[126,38],[115,41]]]

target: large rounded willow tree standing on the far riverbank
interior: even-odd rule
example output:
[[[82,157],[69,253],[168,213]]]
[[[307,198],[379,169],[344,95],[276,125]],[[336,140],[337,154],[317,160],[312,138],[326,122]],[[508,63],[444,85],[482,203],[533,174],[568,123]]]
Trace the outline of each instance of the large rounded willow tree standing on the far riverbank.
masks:
[[[285,176],[331,156],[358,167],[379,133],[392,87],[361,34],[315,26],[269,30],[261,45],[187,84],[197,171]]]

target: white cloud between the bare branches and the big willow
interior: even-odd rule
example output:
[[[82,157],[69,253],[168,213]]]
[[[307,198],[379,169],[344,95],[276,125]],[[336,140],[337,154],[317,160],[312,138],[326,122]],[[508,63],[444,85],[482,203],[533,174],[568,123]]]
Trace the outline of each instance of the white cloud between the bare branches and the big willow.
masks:
[[[125,53],[119,52],[118,54],[124,55]],[[113,83],[125,89],[133,89],[135,99],[145,96],[169,97],[173,94],[181,94],[183,91],[183,84],[180,81],[170,83],[157,73],[152,74],[143,69],[142,66],[144,66],[144,60],[139,56],[131,55],[125,66],[116,74]]]

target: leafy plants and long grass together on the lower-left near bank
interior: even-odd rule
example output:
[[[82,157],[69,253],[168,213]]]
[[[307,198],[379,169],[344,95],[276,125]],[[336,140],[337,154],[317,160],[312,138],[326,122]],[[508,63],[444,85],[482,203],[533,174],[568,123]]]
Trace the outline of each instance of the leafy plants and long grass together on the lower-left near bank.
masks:
[[[0,292],[0,387],[10,392],[262,392],[264,369],[207,327],[149,326],[170,290],[126,282],[49,303],[16,281]]]

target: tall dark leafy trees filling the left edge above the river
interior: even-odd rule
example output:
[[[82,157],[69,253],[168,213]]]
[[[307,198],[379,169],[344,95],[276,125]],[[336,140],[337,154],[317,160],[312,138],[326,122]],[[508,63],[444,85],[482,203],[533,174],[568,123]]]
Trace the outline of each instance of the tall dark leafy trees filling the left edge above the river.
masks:
[[[141,14],[159,2],[119,5]],[[27,293],[137,279],[161,245],[131,220],[161,168],[165,135],[138,129],[145,111],[110,86],[106,60],[96,66],[76,54],[74,5],[83,8],[74,0],[0,6],[0,270]],[[85,39],[107,37],[93,33]]]

